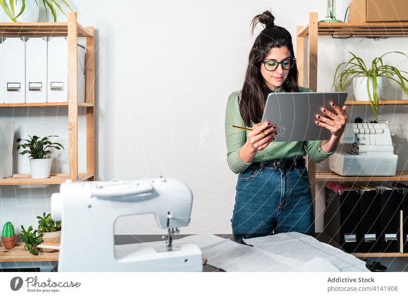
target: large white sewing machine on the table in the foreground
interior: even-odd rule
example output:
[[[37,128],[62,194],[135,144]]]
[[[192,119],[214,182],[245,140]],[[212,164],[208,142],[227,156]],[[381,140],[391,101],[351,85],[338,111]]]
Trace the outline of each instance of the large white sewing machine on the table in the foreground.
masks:
[[[195,243],[173,244],[190,222],[192,192],[175,179],[72,182],[51,197],[53,220],[62,221],[58,271],[202,271]],[[164,241],[114,244],[120,216],[153,213]]]

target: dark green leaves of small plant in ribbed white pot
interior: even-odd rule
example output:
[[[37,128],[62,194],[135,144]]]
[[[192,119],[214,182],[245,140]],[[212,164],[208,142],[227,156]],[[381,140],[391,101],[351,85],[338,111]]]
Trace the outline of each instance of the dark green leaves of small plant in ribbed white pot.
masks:
[[[51,153],[51,151],[48,150],[50,147],[54,147],[57,150],[61,150],[61,148],[64,149],[62,144],[49,141],[49,137],[58,137],[57,135],[46,136],[42,139],[35,135],[33,137],[29,135],[29,137],[30,139],[17,138],[17,143],[21,140],[24,140],[26,143],[18,144],[16,149],[19,150],[21,147],[23,149],[28,149],[20,152],[20,155],[29,154],[32,159],[44,159],[49,153]]]

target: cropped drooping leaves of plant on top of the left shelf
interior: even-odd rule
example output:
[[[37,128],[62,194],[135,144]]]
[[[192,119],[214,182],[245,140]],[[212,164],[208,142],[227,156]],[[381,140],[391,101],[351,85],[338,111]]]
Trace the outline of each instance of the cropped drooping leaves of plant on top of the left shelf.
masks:
[[[21,10],[20,12],[16,15],[15,13],[15,4],[17,4],[17,1],[21,1]],[[7,16],[13,21],[16,22],[16,18],[19,17],[25,9],[25,1],[27,0],[0,0],[0,6],[3,8]],[[68,3],[65,0],[29,0],[29,1],[35,1],[37,6],[39,6],[39,2],[41,1],[42,4],[44,5],[45,8],[45,16],[48,17],[48,13],[50,12],[53,15],[54,21],[57,21],[57,9],[59,9],[64,15],[65,11],[62,9],[62,5],[66,6],[70,11],[72,11],[71,7],[68,5]],[[7,6],[7,3],[9,6]],[[60,2],[61,4],[59,4]],[[48,12],[49,10],[49,12]]]

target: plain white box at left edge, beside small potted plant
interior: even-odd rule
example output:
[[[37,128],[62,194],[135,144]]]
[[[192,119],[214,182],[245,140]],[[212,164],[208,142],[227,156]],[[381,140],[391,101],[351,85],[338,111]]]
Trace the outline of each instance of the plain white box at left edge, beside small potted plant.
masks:
[[[13,176],[14,121],[0,120],[0,179]]]

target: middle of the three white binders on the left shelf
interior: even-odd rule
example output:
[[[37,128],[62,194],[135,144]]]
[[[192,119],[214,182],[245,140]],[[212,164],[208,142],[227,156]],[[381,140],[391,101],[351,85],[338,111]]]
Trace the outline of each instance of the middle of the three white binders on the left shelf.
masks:
[[[28,38],[25,42],[25,102],[47,102],[47,39]]]

